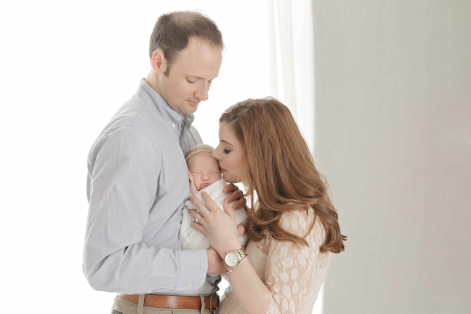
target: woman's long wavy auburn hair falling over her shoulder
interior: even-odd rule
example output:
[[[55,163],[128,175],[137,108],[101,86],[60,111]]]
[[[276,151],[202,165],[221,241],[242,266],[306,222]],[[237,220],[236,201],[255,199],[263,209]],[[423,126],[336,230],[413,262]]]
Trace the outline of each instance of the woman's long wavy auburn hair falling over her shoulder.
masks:
[[[317,171],[306,141],[289,109],[276,98],[247,99],[227,108],[219,118],[226,123],[242,145],[241,168],[246,196],[252,200],[248,210],[246,233],[259,241],[268,235],[295,245],[308,242],[285,231],[280,225],[286,211],[314,209],[325,228],[320,252],[344,250],[337,211],[330,201],[325,178]],[[254,210],[254,193],[258,210]]]

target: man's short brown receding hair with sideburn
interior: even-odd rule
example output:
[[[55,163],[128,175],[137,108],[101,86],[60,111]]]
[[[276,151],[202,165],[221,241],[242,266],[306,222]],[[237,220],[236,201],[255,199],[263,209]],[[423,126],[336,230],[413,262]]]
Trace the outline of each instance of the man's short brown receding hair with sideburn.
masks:
[[[155,50],[163,52],[167,61],[163,75],[169,77],[171,64],[193,37],[224,50],[222,33],[209,16],[196,11],[174,11],[159,16],[150,36],[149,56],[152,59]]]

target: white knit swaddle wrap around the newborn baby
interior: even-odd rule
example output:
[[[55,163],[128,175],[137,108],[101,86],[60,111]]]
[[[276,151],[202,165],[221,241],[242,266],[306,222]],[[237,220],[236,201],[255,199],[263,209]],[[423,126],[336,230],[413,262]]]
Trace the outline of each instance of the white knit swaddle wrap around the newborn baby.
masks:
[[[218,181],[214,182],[211,185],[206,186],[201,191],[196,193],[195,197],[198,199],[198,201],[202,202],[204,206],[206,206],[206,203],[201,197],[201,192],[204,191],[208,193],[208,195],[219,206],[221,210],[224,210],[223,209],[224,198],[230,194],[230,193],[222,192],[222,189],[224,188],[225,185],[226,185],[226,181],[224,181],[223,178],[220,178]],[[230,203],[229,206],[232,208],[232,205],[234,203],[235,201]],[[211,244],[209,243],[208,238],[206,238],[206,236],[203,233],[197,231],[195,228],[191,226],[191,222],[195,221],[195,219],[193,219],[190,216],[188,209],[195,209],[196,212],[201,215],[200,211],[196,209],[195,205],[193,205],[191,201],[185,202],[185,207],[183,208],[183,219],[181,221],[181,227],[180,227],[180,233],[179,233],[180,244],[181,244],[182,250],[209,249],[211,247]],[[245,219],[247,219],[247,213],[245,212],[244,208],[237,209],[237,210],[234,210],[234,217],[237,222],[237,225],[240,225],[241,223],[245,222]],[[244,244],[244,245],[247,244],[247,240],[248,238],[245,234],[239,237],[239,241],[241,244]]]

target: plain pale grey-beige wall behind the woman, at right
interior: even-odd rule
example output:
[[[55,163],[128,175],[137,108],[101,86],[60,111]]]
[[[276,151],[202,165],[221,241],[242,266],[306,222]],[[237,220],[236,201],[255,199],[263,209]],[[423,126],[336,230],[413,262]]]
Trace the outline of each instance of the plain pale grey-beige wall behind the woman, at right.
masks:
[[[313,1],[325,314],[471,313],[471,2]]]

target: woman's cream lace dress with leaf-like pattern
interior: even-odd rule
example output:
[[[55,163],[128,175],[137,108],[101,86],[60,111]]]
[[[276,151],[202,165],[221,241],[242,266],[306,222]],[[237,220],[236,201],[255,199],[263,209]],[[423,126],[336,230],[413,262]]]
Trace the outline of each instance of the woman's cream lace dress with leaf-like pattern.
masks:
[[[288,212],[283,214],[281,225],[284,230],[303,236],[313,218],[312,211],[309,219],[304,212]],[[270,306],[262,314],[312,313],[331,252],[319,252],[319,246],[325,239],[325,230],[318,219],[305,239],[309,248],[303,246],[298,249],[292,242],[280,242],[271,237],[258,242],[249,241],[247,244],[247,261],[271,292]],[[232,285],[224,292],[216,313],[246,313]]]

